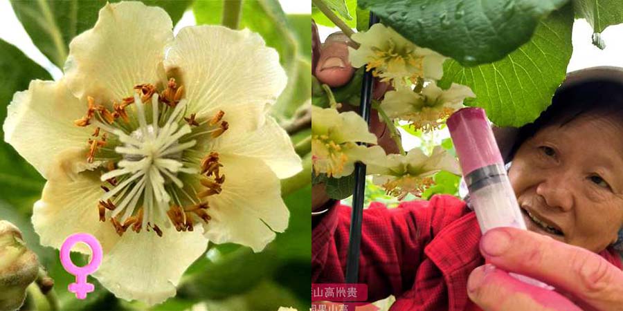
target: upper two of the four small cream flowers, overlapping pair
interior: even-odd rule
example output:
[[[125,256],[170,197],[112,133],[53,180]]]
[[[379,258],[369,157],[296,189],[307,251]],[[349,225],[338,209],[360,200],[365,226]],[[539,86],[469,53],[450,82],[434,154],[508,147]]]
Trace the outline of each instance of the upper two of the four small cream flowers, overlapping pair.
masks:
[[[356,50],[350,48],[353,66],[366,66],[394,86],[395,91],[388,92],[380,106],[392,119],[431,131],[460,109],[466,97],[476,97],[459,84],[448,90],[439,88],[436,81],[443,76],[446,57],[413,44],[392,28],[377,23],[352,39],[360,44]]]

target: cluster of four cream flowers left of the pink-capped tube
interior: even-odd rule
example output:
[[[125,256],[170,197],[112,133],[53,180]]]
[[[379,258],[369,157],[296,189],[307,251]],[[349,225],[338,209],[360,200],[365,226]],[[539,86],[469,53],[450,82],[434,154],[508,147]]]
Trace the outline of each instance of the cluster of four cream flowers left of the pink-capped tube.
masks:
[[[365,66],[374,77],[392,86],[377,106],[390,129],[395,129],[397,120],[405,120],[415,129],[433,131],[462,107],[466,97],[476,97],[469,87],[460,84],[452,84],[447,90],[437,86],[446,57],[413,44],[382,23],[352,35],[351,39],[359,44],[359,48],[349,48],[352,65]],[[377,147],[356,144],[376,144],[377,139],[368,133],[367,124],[354,113],[316,109],[313,123],[316,173],[347,176],[353,171],[353,163],[361,161],[368,164],[368,174],[375,175],[374,183],[399,199],[407,194],[420,196],[424,189],[433,185],[433,175],[440,170],[459,173],[455,158],[440,147],[435,148],[431,156],[419,149],[406,155],[386,156],[382,150],[377,151]],[[390,133],[400,144],[397,131]]]

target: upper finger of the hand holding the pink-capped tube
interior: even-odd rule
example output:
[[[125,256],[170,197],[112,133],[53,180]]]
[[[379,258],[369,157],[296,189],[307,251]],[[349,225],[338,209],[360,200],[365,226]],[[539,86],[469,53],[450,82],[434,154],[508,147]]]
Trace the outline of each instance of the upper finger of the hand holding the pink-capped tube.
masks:
[[[553,285],[583,308],[622,308],[623,272],[587,249],[504,227],[482,236],[480,251],[496,267]]]

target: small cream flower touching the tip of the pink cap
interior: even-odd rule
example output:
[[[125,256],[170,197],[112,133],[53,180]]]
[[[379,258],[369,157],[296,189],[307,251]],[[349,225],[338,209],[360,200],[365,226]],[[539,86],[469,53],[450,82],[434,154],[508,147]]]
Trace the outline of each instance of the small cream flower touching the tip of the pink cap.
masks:
[[[406,87],[387,92],[381,109],[388,117],[411,122],[415,129],[431,131],[461,109],[466,97],[476,97],[468,86],[453,83],[449,89],[442,90],[430,82],[421,93]]]

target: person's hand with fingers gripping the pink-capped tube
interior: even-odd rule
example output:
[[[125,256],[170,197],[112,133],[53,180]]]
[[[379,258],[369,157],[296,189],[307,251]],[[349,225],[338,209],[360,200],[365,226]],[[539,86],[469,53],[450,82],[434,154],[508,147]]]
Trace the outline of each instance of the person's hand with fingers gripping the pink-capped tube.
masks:
[[[482,236],[480,252],[492,265],[471,272],[467,292],[484,310],[623,310],[623,272],[586,249],[534,232],[497,228]],[[503,270],[556,290],[523,283]]]

